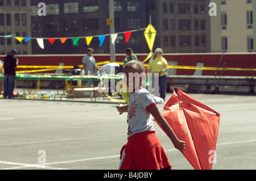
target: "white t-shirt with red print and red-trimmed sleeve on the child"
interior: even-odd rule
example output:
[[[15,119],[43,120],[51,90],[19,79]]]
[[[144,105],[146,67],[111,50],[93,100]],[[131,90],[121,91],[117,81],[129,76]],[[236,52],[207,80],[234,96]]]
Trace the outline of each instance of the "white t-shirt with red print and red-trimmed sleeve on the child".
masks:
[[[127,114],[128,137],[135,133],[155,131],[152,116],[147,111],[155,104],[153,96],[146,89],[130,93]]]

